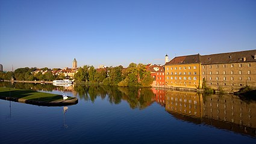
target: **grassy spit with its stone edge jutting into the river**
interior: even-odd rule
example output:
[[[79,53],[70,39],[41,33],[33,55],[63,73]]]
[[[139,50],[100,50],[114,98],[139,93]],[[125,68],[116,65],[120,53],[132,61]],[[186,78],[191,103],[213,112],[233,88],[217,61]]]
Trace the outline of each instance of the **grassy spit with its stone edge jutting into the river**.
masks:
[[[78,99],[75,97],[68,97],[67,100],[63,100],[62,95],[6,87],[0,88],[0,99],[37,106],[68,106],[78,103]]]

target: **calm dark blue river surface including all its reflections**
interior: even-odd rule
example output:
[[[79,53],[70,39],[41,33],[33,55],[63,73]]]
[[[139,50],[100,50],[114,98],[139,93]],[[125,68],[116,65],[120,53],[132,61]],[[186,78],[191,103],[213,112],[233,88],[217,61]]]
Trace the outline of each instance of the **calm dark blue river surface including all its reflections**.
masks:
[[[31,83],[11,86],[54,94],[65,91],[79,102],[44,107],[0,100],[0,143],[256,143],[256,102],[235,95]]]

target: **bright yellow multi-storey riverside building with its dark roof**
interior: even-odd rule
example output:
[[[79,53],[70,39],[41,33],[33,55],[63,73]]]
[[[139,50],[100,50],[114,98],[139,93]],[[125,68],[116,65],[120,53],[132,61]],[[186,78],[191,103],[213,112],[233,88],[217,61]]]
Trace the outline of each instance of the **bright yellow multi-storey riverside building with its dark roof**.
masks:
[[[179,88],[201,88],[200,55],[178,56],[166,62],[165,80],[167,86]]]

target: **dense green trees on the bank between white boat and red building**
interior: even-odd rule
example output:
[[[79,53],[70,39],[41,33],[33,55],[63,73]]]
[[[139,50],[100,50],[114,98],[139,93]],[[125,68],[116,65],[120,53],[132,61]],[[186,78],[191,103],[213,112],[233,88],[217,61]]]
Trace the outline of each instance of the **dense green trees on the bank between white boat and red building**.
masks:
[[[150,71],[143,64],[131,63],[127,68],[122,65],[96,70],[93,66],[84,65],[78,68],[74,76],[78,82],[101,83],[111,86],[149,87],[153,82]]]

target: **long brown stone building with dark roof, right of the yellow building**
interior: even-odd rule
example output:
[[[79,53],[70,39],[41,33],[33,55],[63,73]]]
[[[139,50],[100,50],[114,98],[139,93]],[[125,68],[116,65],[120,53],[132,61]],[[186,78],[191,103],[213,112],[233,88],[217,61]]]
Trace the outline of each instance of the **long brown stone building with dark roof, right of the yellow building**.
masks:
[[[207,86],[236,91],[256,87],[256,50],[201,56],[202,78]]]

